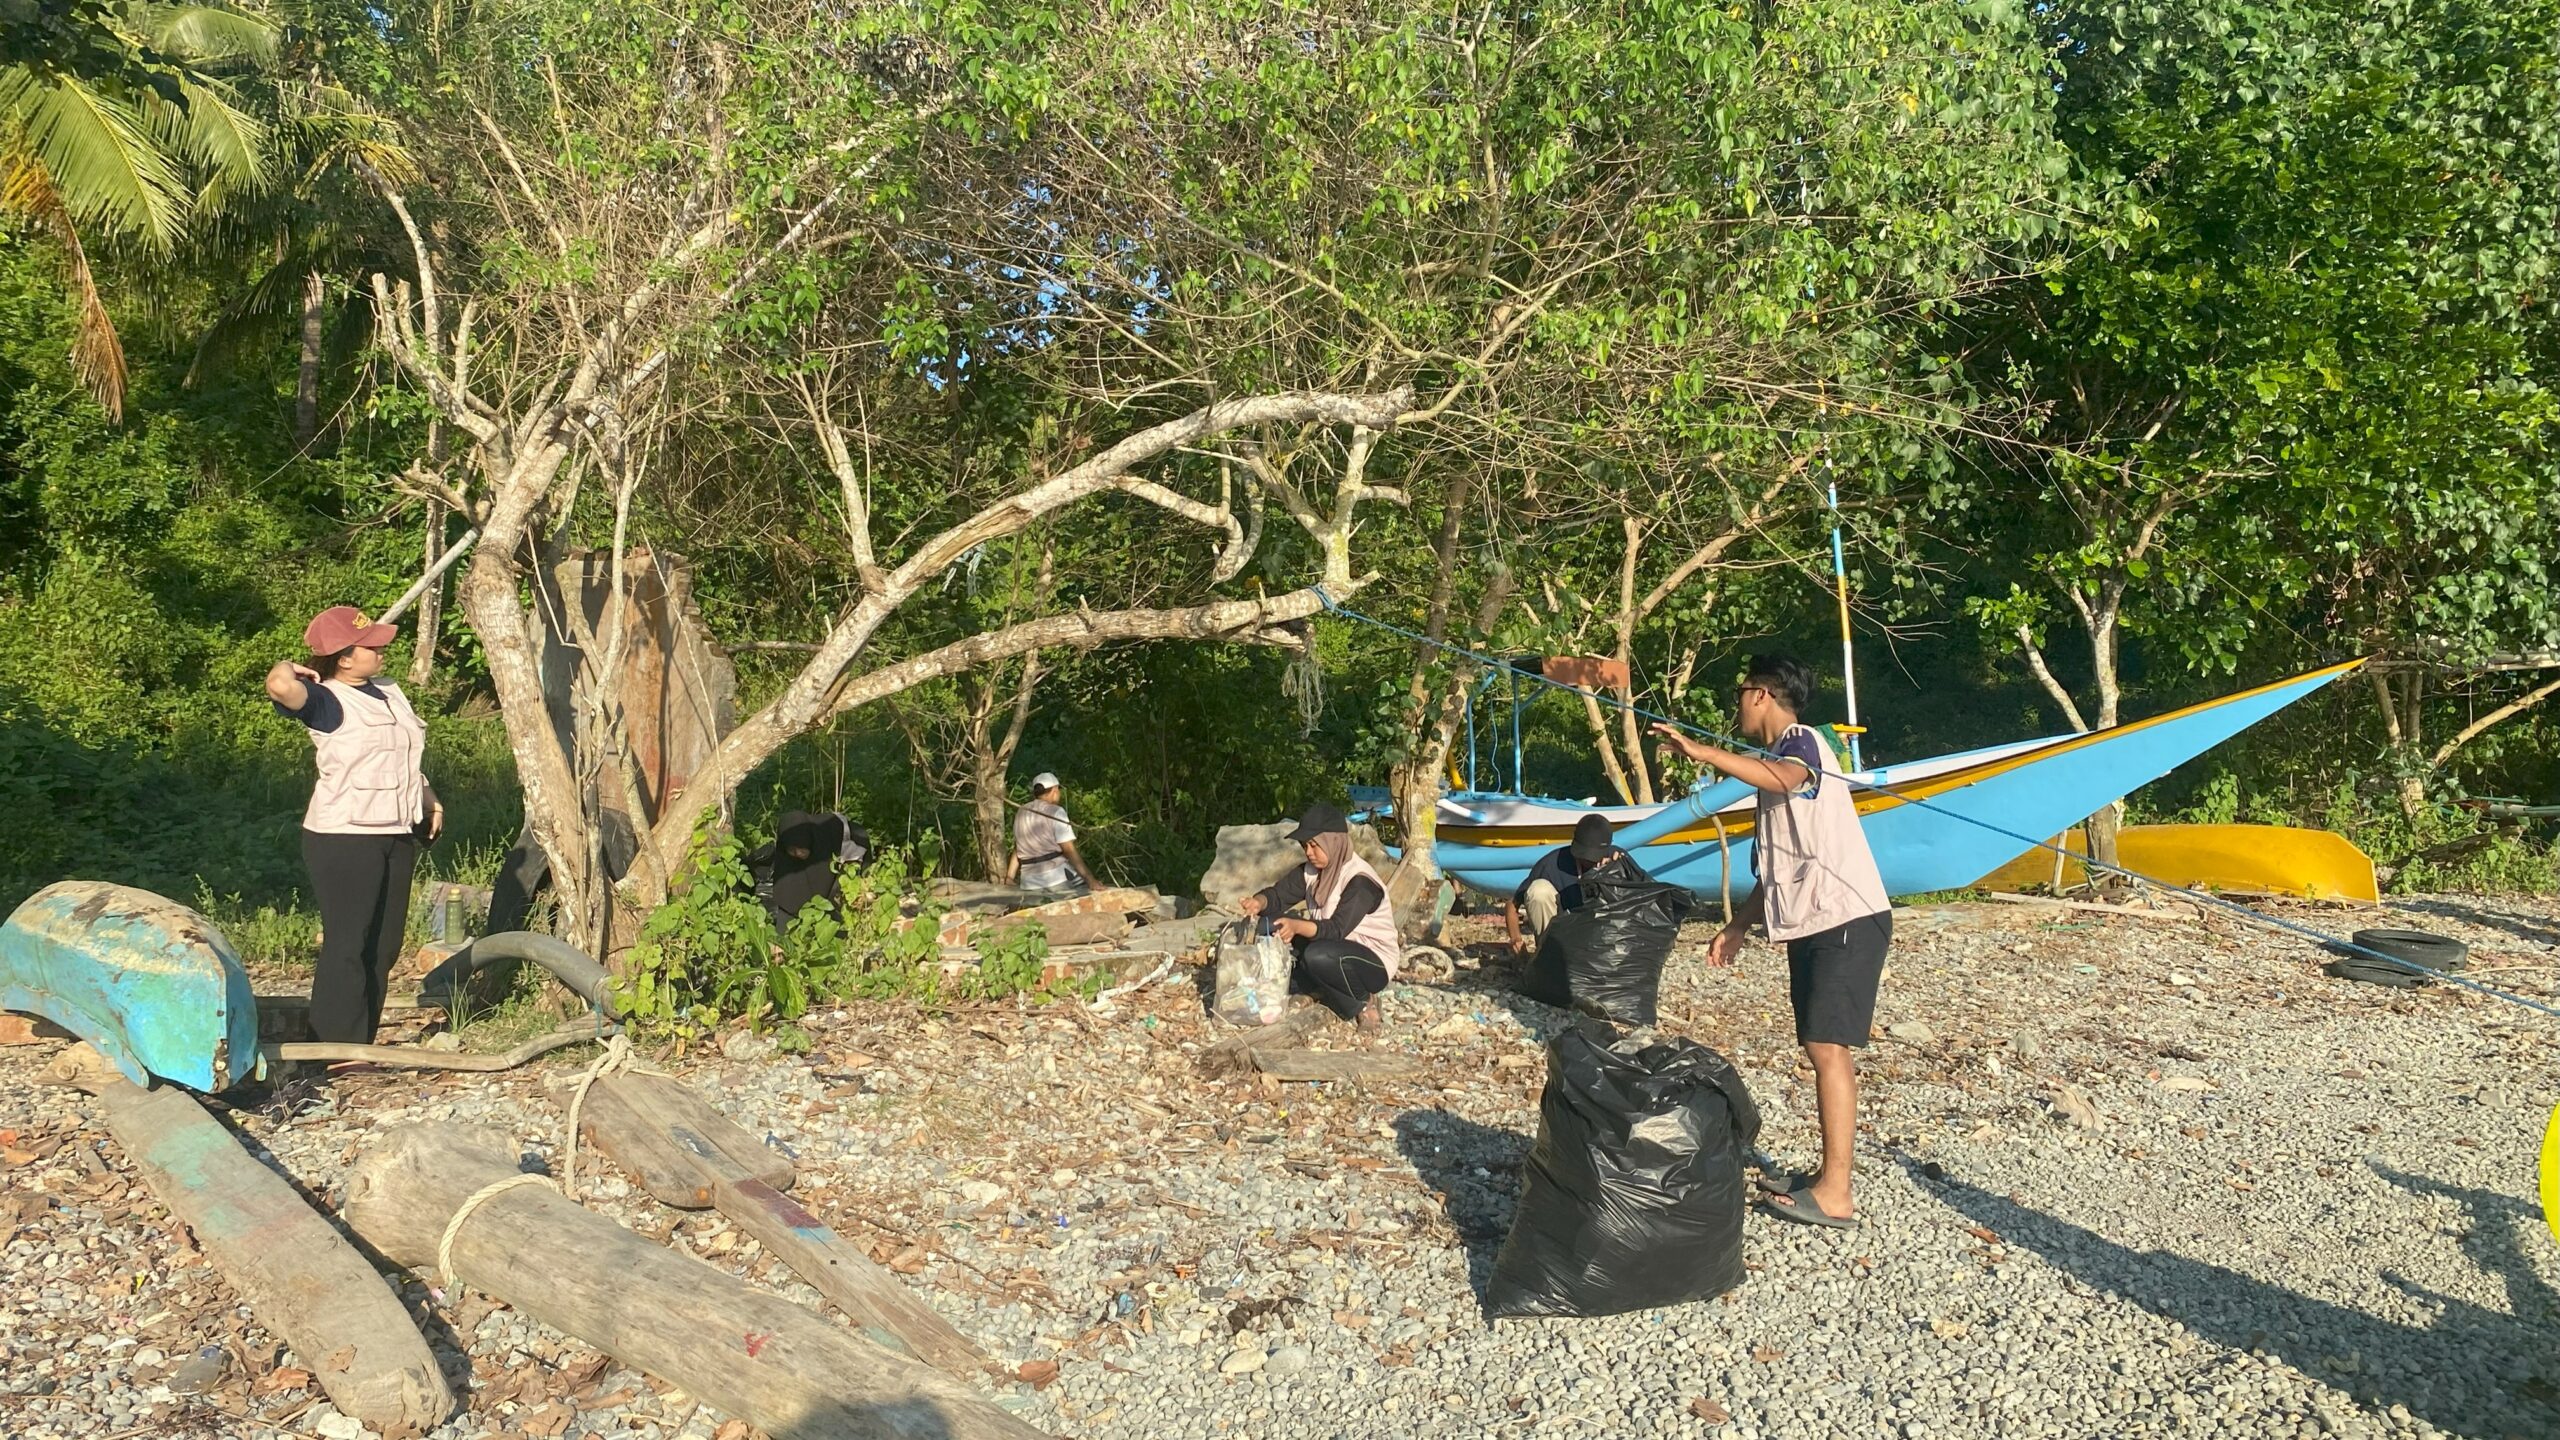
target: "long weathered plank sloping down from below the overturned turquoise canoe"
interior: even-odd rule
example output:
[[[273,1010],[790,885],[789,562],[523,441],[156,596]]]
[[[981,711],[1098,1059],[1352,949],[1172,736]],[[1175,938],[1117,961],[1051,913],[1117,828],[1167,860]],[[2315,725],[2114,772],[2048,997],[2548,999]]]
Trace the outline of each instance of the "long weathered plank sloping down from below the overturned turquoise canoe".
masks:
[[[453,1414],[435,1353],[392,1286],[192,1094],[141,1089],[105,1061],[56,1058],[56,1074],[97,1097],[151,1194],[195,1232],[259,1325],[294,1348],[330,1404],[376,1430],[433,1430]]]

